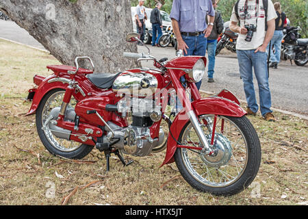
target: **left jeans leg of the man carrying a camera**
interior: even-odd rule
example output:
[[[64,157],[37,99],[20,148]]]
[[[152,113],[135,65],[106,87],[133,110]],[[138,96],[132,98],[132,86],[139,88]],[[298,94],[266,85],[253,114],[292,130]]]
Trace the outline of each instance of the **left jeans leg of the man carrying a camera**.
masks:
[[[251,60],[251,50],[238,50],[238,65],[240,67],[240,75],[244,83],[244,92],[246,95],[246,101],[248,108],[253,113],[256,113],[259,109],[257,100],[255,98],[255,88],[253,86],[253,62]]]

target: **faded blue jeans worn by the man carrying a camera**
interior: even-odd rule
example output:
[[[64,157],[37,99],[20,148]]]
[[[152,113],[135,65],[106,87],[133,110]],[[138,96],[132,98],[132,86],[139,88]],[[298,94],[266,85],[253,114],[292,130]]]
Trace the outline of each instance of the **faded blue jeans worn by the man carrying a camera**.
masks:
[[[268,68],[266,52],[253,50],[238,50],[238,64],[240,66],[240,75],[244,82],[244,92],[248,107],[253,111],[258,111],[257,99],[255,97],[255,88],[253,86],[253,70],[259,86],[260,111],[262,116],[272,112],[270,88],[268,86]]]

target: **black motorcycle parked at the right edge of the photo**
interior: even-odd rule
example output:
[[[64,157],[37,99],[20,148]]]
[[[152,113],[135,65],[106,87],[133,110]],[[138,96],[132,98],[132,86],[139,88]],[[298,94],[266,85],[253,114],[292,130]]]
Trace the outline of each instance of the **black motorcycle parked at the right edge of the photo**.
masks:
[[[286,27],[283,29],[281,42],[281,59],[294,60],[298,66],[305,66],[308,62],[308,39],[300,39],[300,27]]]

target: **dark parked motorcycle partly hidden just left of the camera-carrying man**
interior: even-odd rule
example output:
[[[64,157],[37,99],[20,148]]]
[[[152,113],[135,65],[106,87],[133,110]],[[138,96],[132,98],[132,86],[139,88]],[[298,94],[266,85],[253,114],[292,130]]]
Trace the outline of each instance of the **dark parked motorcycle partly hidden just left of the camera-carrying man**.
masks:
[[[226,47],[229,51],[236,53],[236,40],[238,39],[238,34],[231,31],[229,28],[229,21],[224,23],[224,30],[220,37],[218,38],[216,53],[218,55],[224,47]]]

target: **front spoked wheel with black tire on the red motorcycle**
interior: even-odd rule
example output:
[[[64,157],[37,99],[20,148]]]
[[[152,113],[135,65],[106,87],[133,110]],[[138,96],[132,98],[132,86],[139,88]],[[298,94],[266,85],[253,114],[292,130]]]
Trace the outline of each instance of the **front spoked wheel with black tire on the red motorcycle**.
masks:
[[[208,142],[214,145],[214,154],[199,150],[178,148],[175,162],[183,178],[193,188],[215,195],[231,196],[251,184],[261,162],[261,146],[253,125],[245,117],[199,116]],[[214,138],[212,139],[213,129]],[[179,142],[200,147],[192,124],[182,129]]]

